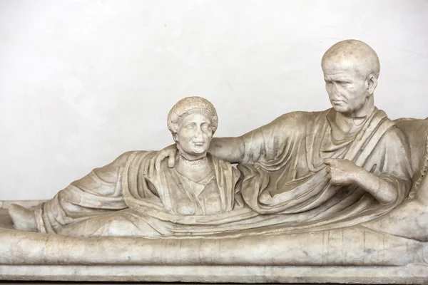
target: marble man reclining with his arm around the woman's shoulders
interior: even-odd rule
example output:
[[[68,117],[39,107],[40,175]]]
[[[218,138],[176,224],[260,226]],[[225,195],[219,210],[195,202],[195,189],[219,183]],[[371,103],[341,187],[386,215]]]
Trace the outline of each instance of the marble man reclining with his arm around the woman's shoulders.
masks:
[[[362,41],[336,43],[322,57],[322,71],[333,108],[287,113],[240,137],[213,138],[208,150],[239,164],[245,203],[260,214],[285,214],[284,231],[374,219],[412,185],[407,140],[374,106],[374,50]],[[174,153],[175,145],[162,150],[148,174],[165,157],[173,167]],[[254,184],[259,193],[248,190]]]

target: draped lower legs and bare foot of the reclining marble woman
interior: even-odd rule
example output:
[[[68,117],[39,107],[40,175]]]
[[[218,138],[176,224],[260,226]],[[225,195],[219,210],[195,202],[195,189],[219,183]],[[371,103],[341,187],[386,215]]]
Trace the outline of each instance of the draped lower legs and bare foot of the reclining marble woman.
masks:
[[[9,214],[14,227],[33,232],[57,232],[63,226],[106,212],[126,209],[122,195],[122,172],[132,152],[111,164],[92,170],[58,192],[53,199],[26,209],[11,204]]]

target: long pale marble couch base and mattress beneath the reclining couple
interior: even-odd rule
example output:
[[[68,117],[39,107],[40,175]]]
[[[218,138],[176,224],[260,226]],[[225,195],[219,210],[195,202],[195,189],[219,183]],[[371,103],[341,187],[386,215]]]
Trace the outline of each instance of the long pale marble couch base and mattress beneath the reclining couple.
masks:
[[[428,242],[363,226],[229,239],[77,238],[0,220],[0,280],[427,284]]]

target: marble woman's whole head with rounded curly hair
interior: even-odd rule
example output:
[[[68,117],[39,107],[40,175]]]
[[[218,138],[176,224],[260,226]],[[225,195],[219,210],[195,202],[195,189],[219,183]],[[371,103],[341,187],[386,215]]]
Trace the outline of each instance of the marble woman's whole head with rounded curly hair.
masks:
[[[213,104],[201,97],[183,98],[168,113],[168,129],[178,149],[191,157],[205,155],[217,126]]]

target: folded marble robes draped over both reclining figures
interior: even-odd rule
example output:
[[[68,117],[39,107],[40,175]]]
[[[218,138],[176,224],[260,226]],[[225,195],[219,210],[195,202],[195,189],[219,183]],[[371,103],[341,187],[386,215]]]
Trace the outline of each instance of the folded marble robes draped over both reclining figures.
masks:
[[[145,177],[156,152],[127,152],[40,204],[39,230],[86,237],[235,237],[351,226],[394,209],[411,186],[404,135],[374,109],[357,135],[337,141],[327,120],[331,110],[287,113],[243,135],[239,171],[209,156],[214,172],[203,186],[189,187],[167,162]],[[330,185],[325,157],[351,160],[378,175],[397,199],[381,204],[359,187]],[[206,212],[206,203],[214,210]]]

